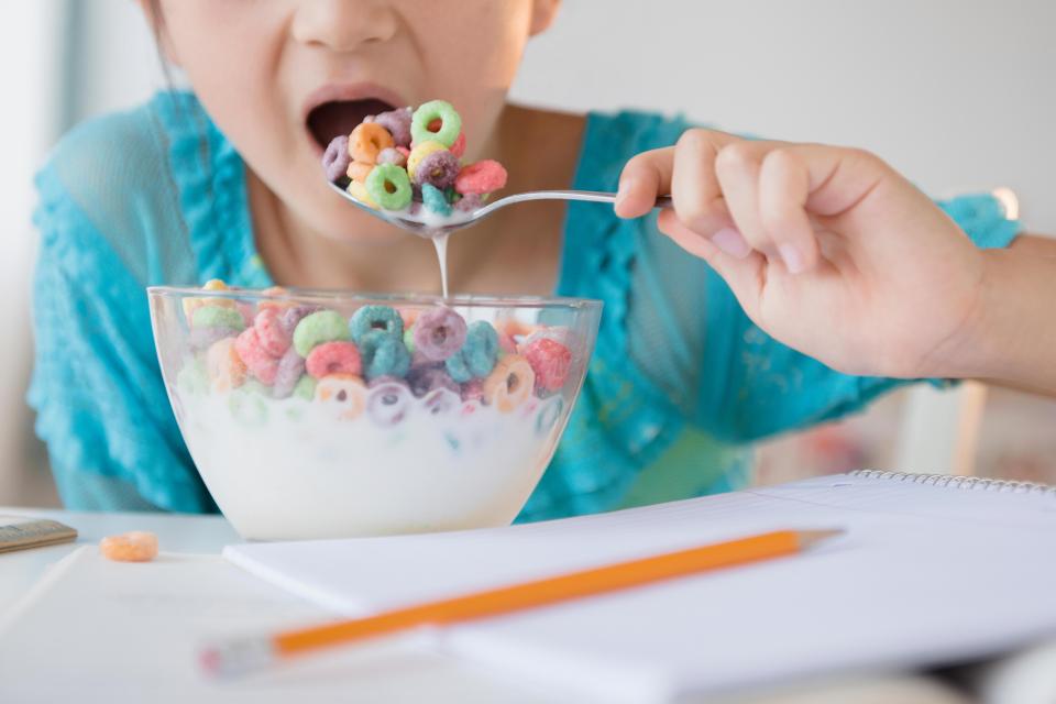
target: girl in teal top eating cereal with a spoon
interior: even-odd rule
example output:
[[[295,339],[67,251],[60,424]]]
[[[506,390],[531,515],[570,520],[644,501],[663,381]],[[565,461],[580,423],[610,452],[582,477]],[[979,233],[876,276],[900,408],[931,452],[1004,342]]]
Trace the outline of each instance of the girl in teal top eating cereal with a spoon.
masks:
[[[579,405],[522,518],[741,486],[744,446],[902,383],[879,376],[1056,389],[1034,352],[1052,349],[1037,301],[1053,266],[972,244],[1018,233],[993,199],[944,213],[856,151],[508,105],[558,0],[143,6],[194,92],[78,128],[37,179],[30,398],[70,507],[216,509],[169,409],[145,286],[436,286],[431,245],[350,208],[319,166],[365,114],[432,98],[461,111],[469,158],[509,167],[510,193],[619,186],[618,217],[521,207],[452,246],[455,290],[605,301]],[[674,211],[641,218],[664,193]],[[1024,301],[1015,316],[1010,300]]]

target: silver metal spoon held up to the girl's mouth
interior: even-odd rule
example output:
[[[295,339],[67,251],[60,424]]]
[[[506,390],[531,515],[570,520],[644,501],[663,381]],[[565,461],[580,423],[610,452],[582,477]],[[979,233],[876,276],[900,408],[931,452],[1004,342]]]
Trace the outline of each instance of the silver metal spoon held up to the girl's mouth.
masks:
[[[481,206],[472,212],[455,211],[450,216],[437,216],[419,210],[419,213],[411,215],[410,212],[403,210],[382,210],[380,208],[373,208],[362,200],[358,200],[352,194],[334,183],[331,183],[330,187],[340,194],[345,200],[355,207],[365,210],[375,218],[384,220],[385,222],[396,226],[397,228],[414,232],[418,237],[428,239],[451,234],[457,230],[476,224],[484,218],[487,218],[498,210],[502,210],[506,206],[513,206],[518,202],[527,202],[529,200],[585,200],[588,202],[616,202],[616,194],[603,193],[598,190],[529,190],[527,193],[514,194],[513,196],[506,196],[504,198],[499,198],[498,200],[493,200],[486,206]],[[657,198],[657,204],[653,207],[670,208],[671,206],[672,200],[670,196],[660,196]]]

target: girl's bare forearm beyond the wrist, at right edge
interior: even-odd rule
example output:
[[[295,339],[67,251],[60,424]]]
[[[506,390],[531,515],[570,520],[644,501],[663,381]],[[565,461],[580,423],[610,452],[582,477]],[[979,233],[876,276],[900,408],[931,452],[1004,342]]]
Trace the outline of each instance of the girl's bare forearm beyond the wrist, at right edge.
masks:
[[[976,312],[943,375],[1056,396],[1056,240],[987,251]]]

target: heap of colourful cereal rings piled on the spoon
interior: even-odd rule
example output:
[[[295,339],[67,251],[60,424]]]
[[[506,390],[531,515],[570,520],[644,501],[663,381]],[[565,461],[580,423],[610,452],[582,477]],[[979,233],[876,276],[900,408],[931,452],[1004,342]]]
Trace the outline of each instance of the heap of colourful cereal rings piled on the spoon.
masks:
[[[372,208],[449,218],[481,208],[506,186],[502,164],[464,164],[462,118],[451,103],[431,100],[367,116],[351,134],[336,136],[322,157],[331,183]]]

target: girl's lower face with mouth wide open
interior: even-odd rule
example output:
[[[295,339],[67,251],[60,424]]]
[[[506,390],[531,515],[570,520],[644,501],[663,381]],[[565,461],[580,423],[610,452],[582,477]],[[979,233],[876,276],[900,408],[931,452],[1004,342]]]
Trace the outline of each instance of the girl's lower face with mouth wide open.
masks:
[[[304,224],[363,239],[322,151],[366,114],[452,102],[487,148],[526,41],[560,0],[162,0],[170,59],[253,172]],[[473,158],[476,154],[469,154]]]

